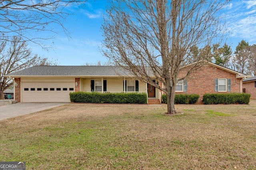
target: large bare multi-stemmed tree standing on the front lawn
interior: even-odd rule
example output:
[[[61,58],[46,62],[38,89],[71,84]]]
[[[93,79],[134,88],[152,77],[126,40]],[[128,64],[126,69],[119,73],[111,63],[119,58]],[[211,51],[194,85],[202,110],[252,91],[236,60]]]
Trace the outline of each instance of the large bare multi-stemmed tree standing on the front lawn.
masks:
[[[223,35],[223,23],[218,12],[225,3],[223,0],[110,1],[102,25],[102,53],[136,79],[165,92],[168,113],[174,114],[176,83],[200,68],[199,61],[208,51],[204,48],[220,43],[216,40]],[[198,47],[200,54],[191,54],[191,47]],[[181,68],[190,61],[194,64],[180,76]]]

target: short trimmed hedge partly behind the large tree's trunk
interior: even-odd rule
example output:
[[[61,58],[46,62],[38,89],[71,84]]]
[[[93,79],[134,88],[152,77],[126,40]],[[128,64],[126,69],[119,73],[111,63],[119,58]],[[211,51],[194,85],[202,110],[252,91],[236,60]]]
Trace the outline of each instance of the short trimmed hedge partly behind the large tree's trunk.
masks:
[[[198,94],[175,94],[174,104],[195,104],[198,98]],[[166,94],[162,95],[162,102],[167,103]]]

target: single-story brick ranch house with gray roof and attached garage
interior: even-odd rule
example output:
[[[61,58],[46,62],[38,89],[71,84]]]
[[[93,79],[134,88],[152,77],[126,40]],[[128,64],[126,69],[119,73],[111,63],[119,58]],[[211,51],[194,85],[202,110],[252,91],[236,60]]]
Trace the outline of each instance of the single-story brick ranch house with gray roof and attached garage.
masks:
[[[186,68],[182,68],[186,71]],[[8,74],[14,78],[18,102],[70,102],[70,92],[145,92],[148,103],[160,103],[162,91],[140,82],[116,66],[33,66]],[[246,74],[208,62],[177,83],[177,94],[242,92]],[[157,80],[156,80],[157,81]],[[161,84],[160,84],[161,86]],[[199,101],[199,103],[201,103]]]

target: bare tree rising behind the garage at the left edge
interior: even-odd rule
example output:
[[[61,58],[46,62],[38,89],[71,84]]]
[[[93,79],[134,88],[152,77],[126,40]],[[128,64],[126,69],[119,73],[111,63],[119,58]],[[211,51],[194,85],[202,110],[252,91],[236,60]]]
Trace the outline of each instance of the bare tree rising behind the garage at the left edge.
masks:
[[[12,79],[4,75],[28,68],[33,65],[54,65],[56,63],[47,58],[32,55],[27,43],[21,37],[12,37],[12,40],[0,41],[0,99],[3,98],[4,90],[12,86]]]

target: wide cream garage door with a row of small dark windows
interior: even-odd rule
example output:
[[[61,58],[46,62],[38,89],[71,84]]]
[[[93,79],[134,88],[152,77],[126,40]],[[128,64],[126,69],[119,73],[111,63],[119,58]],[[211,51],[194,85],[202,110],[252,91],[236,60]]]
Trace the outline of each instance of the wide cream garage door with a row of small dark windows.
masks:
[[[22,102],[70,102],[74,82],[22,82]]]

